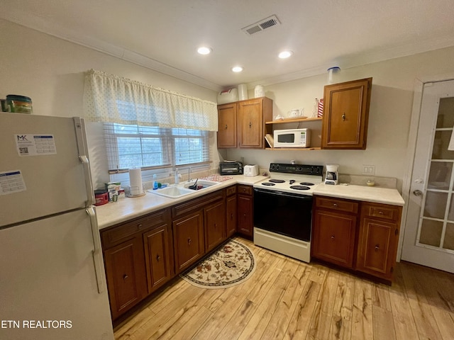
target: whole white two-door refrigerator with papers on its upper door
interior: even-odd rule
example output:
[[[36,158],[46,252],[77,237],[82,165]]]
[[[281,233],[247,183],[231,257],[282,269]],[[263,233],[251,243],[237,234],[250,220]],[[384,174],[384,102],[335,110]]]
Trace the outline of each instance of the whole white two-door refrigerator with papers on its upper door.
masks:
[[[0,339],[114,339],[84,120],[0,122]]]

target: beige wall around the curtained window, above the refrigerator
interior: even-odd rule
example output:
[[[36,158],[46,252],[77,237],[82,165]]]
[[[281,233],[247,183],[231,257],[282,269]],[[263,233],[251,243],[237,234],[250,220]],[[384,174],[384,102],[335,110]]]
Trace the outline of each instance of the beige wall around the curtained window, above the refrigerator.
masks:
[[[216,91],[0,19],[0,98],[31,97],[33,113],[81,116],[84,72],[99,69],[216,102]],[[151,42],[150,42],[151,43]],[[88,124],[94,187],[109,181],[102,126]]]

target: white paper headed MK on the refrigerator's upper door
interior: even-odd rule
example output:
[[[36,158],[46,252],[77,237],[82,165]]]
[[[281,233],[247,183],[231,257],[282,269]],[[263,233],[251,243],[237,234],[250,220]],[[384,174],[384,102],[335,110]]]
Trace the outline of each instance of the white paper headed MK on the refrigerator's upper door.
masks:
[[[14,135],[19,156],[43,156],[57,154],[54,135]]]

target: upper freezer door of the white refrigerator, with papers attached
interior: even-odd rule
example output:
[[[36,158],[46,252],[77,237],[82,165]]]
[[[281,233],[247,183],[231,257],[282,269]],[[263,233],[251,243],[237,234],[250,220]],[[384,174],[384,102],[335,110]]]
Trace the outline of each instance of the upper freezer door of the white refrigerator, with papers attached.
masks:
[[[0,145],[0,227],[92,204],[83,120],[0,113]]]

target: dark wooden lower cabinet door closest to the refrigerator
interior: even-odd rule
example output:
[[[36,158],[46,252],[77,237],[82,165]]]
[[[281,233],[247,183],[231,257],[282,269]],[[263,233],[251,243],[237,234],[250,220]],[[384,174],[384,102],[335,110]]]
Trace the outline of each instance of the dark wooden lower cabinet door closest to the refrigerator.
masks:
[[[142,239],[135,237],[107,249],[104,261],[112,319],[116,319],[147,295]]]

